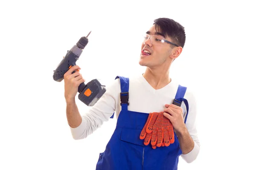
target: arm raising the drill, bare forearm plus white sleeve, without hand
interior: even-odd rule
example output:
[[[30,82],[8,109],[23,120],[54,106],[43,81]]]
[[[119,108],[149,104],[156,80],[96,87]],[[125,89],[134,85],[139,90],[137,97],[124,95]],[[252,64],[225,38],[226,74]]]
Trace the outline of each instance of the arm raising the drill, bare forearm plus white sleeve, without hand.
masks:
[[[91,133],[98,129],[103,122],[108,121],[116,108],[116,101],[121,92],[119,79],[114,84],[106,88],[105,94],[95,103],[93,107],[84,113],[79,113],[75,99],[66,97],[67,102],[67,121],[70,126],[73,139],[79,140],[87,138]],[[69,100],[67,100],[69,99]],[[119,101],[118,101],[119,102]]]

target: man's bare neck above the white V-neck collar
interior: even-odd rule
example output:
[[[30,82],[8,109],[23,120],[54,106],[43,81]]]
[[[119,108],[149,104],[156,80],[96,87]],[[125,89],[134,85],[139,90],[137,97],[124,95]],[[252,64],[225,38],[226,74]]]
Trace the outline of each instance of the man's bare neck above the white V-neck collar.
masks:
[[[143,77],[154,88],[160,89],[165,87],[171,82],[169,77],[169,68],[146,68]]]

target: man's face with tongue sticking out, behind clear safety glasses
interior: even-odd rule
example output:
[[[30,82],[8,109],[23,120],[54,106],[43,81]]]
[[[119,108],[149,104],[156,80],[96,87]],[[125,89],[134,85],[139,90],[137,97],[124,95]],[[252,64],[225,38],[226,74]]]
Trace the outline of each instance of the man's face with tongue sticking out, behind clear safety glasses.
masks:
[[[161,30],[159,29],[158,31]],[[156,32],[154,25],[147,31],[147,33],[150,36],[161,34],[161,32]],[[172,40],[169,37],[160,37],[172,42]],[[153,37],[150,39],[153,39]],[[161,66],[166,61],[166,59],[169,58],[172,52],[172,48],[166,42],[163,43],[163,46],[152,44],[152,40],[150,39],[147,39],[145,40],[145,42],[142,42],[139,64],[147,67]],[[147,52],[149,52],[149,54],[147,54]]]

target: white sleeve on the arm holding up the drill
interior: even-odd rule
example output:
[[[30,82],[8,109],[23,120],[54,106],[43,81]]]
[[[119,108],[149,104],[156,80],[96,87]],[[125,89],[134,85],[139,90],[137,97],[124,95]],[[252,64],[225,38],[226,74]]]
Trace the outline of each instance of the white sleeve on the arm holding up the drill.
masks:
[[[70,127],[73,139],[84,139],[98,129],[103,122],[109,120],[116,110],[118,94],[120,94],[120,80],[116,79],[109,86],[106,86],[106,92],[93,105],[88,112],[81,114],[82,122],[76,127]]]

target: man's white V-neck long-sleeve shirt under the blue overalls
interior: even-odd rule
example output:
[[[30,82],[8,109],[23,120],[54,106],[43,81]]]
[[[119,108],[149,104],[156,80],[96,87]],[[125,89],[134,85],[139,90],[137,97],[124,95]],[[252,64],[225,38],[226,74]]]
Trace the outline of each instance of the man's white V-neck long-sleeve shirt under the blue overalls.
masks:
[[[128,111],[136,111],[143,113],[161,112],[165,108],[165,104],[171,104],[175,98],[178,84],[173,80],[161,89],[155,90],[146,81],[142,74],[137,77],[129,78],[129,105]],[[81,124],[71,129],[71,133],[74,139],[84,139],[103,122],[108,119],[115,112],[116,118],[118,118],[121,111],[120,105],[120,79],[116,79],[109,86],[106,86],[105,94],[99,99],[96,104],[90,108],[87,113],[81,114]],[[194,140],[195,146],[193,150],[187,154],[182,154],[181,157],[188,163],[191,163],[196,159],[200,150],[200,143],[197,135],[197,129],[195,124],[196,119],[196,101],[193,93],[187,87],[186,94],[184,96],[189,103],[189,114],[186,120],[186,127],[190,136]],[[182,103],[183,118],[186,116],[186,106]]]

